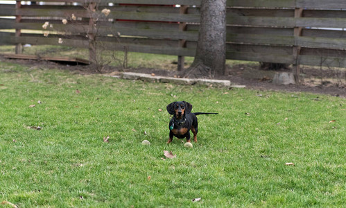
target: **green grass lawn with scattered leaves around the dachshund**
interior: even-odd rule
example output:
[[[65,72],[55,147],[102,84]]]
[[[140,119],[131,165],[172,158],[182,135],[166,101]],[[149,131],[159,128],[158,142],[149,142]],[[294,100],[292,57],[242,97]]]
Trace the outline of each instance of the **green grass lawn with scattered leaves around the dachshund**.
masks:
[[[0,201],[346,206],[345,98],[143,83],[5,62],[0,75]],[[166,105],[182,100],[194,112],[220,113],[198,116],[192,149],[176,138],[166,144]],[[42,130],[27,128],[38,125]],[[142,146],[144,139],[151,145]],[[163,160],[163,150],[177,157]]]

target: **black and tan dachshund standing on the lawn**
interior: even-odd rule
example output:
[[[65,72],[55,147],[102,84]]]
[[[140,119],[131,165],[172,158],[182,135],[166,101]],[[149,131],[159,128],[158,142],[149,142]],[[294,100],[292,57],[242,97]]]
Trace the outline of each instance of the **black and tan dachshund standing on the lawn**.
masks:
[[[167,112],[173,115],[171,121],[169,121],[169,139],[167,144],[172,142],[173,136],[178,139],[184,139],[186,137],[187,142],[190,142],[190,130],[193,133],[193,141],[197,142],[197,115],[218,114],[206,112],[191,113],[192,105],[185,101],[173,102],[168,104],[166,108]]]

